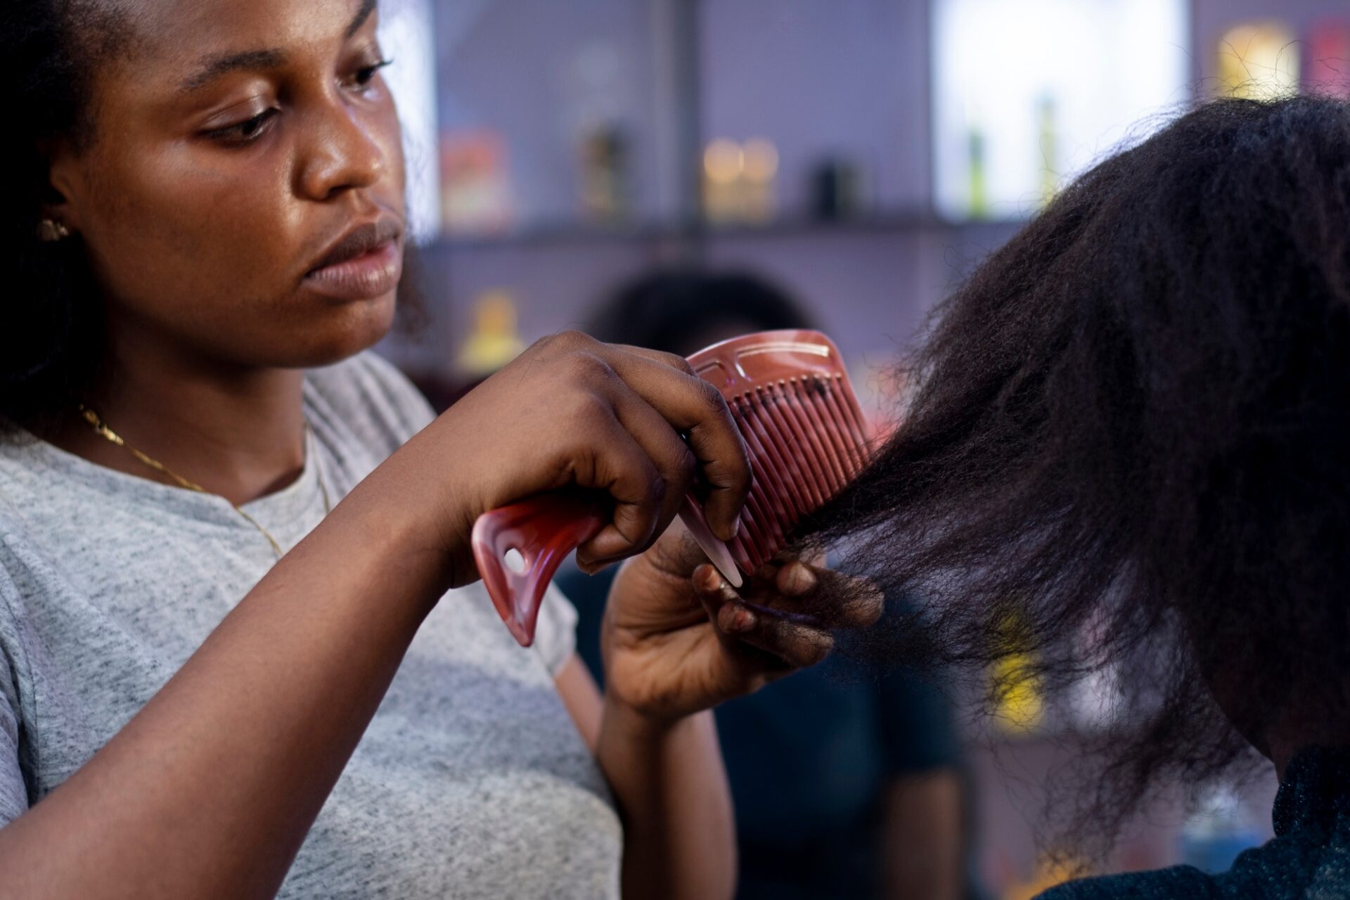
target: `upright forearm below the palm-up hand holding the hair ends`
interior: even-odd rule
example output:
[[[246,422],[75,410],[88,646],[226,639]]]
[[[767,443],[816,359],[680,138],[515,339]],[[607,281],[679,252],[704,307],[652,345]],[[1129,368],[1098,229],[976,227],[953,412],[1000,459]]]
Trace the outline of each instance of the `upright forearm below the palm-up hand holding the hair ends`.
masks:
[[[655,723],[606,700],[595,757],[624,819],[624,896],[730,897],[736,827],[713,714]]]

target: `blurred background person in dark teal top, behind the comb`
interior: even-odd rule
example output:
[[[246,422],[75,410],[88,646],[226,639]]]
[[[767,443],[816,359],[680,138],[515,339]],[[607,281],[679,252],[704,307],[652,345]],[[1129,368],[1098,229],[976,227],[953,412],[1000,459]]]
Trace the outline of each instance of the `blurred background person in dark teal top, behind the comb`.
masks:
[[[589,322],[601,340],[687,356],[749,332],[811,328],[778,286],[734,271],[657,270]],[[578,652],[603,680],[601,619],[613,572],[564,567]],[[967,896],[961,753],[946,699],[903,669],[842,658],[717,714],[736,807],[742,900],[954,900]]]

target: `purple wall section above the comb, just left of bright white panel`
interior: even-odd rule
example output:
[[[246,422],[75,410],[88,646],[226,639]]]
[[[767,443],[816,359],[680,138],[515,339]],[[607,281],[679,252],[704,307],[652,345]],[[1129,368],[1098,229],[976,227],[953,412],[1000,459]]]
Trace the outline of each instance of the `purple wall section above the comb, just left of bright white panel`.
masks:
[[[701,7],[703,131],[765,136],[783,208],[811,167],[844,157],[884,208],[929,202],[927,9],[878,0],[713,0]]]

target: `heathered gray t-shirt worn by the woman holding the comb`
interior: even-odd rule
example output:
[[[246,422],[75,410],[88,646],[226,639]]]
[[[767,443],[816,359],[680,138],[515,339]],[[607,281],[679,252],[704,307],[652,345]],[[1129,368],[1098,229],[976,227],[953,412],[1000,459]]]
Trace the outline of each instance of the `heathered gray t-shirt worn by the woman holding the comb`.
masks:
[[[244,509],[284,549],[432,418],[363,354],[309,372],[305,468]],[[454,460],[447,460],[452,466]],[[275,561],[221,498],[0,447],[0,823],[84,765]],[[518,648],[481,584],[418,631],[281,897],[618,895],[622,835],[554,687],[575,611]]]

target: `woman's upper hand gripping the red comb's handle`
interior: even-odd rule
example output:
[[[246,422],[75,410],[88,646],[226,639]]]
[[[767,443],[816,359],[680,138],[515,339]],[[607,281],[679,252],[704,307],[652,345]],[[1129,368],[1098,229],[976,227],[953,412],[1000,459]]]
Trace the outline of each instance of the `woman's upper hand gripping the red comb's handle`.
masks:
[[[751,484],[726,401],[686,360],[579,332],[537,341],[397,457],[437,488],[425,495],[456,586],[478,578],[474,521],[533,494],[575,486],[610,497],[610,522],[576,552],[594,569],[647,549],[691,490],[713,533],[730,540]]]

